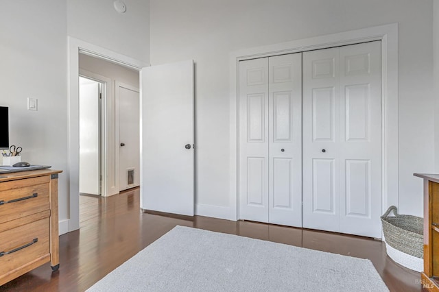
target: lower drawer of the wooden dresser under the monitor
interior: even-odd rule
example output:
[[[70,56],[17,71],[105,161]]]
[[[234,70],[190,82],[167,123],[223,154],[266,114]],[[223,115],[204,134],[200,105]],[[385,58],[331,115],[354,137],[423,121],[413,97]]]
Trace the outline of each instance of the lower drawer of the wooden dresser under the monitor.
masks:
[[[38,218],[41,215],[47,217]],[[17,227],[0,232],[0,282],[19,269],[50,260],[49,211],[31,217],[37,220],[24,225],[17,223]],[[10,225],[14,225],[11,223],[14,222],[10,222]],[[2,256],[2,253],[6,254]]]

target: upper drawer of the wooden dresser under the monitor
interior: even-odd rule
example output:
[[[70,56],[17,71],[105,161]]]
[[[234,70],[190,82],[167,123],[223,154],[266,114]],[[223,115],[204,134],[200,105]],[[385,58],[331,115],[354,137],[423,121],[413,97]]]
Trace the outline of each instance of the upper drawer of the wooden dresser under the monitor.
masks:
[[[0,182],[0,222],[49,210],[50,177]]]

